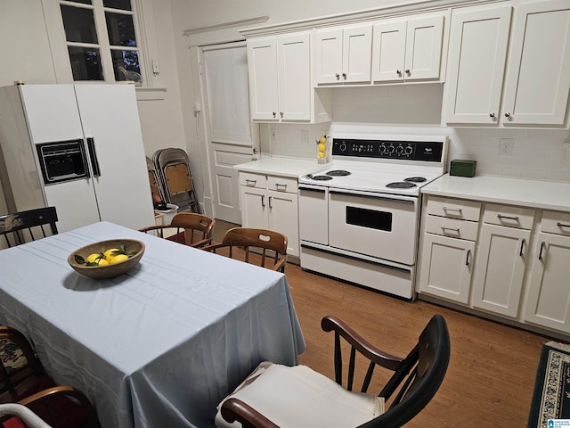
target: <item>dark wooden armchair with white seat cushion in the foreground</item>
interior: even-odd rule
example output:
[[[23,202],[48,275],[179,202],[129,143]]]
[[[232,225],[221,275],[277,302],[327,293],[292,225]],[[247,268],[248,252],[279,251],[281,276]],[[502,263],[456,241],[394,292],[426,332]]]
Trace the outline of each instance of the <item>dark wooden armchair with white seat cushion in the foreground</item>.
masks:
[[[321,326],[334,332],[336,382],[307,366],[262,363],[220,403],[216,426],[399,428],[428,405],[444,380],[451,347],[441,315],[430,319],[405,358],[379,350],[338,317],[323,317]],[[376,366],[393,372],[378,395],[367,392]],[[362,387],[353,391],[356,379]]]

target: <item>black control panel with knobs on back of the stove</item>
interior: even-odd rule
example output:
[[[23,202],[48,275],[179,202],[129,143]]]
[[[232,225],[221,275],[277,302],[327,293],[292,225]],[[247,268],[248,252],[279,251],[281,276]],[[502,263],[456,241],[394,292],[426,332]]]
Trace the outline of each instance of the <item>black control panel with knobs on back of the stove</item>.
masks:
[[[444,143],[441,141],[395,141],[333,138],[334,156],[387,158],[402,161],[441,162]]]

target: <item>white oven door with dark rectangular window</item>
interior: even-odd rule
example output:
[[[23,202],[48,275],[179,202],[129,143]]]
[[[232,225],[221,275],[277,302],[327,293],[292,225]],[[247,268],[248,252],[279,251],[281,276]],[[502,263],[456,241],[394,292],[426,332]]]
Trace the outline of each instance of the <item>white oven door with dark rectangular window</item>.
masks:
[[[329,189],[329,244],[367,256],[414,265],[418,198]]]

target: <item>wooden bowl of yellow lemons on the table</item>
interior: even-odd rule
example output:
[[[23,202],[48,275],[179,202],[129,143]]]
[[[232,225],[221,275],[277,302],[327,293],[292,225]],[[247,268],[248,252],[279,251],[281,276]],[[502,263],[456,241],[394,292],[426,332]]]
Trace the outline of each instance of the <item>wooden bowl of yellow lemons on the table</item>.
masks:
[[[102,279],[119,276],[142,258],[144,243],[135,239],[110,239],[91,243],[69,254],[68,263],[77,273]]]

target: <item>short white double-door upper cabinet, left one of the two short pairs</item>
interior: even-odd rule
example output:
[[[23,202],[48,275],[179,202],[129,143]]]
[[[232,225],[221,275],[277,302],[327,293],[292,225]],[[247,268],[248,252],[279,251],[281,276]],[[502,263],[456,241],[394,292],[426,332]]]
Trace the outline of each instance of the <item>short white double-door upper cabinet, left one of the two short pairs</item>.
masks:
[[[371,25],[315,30],[315,83],[371,83],[371,45]]]

